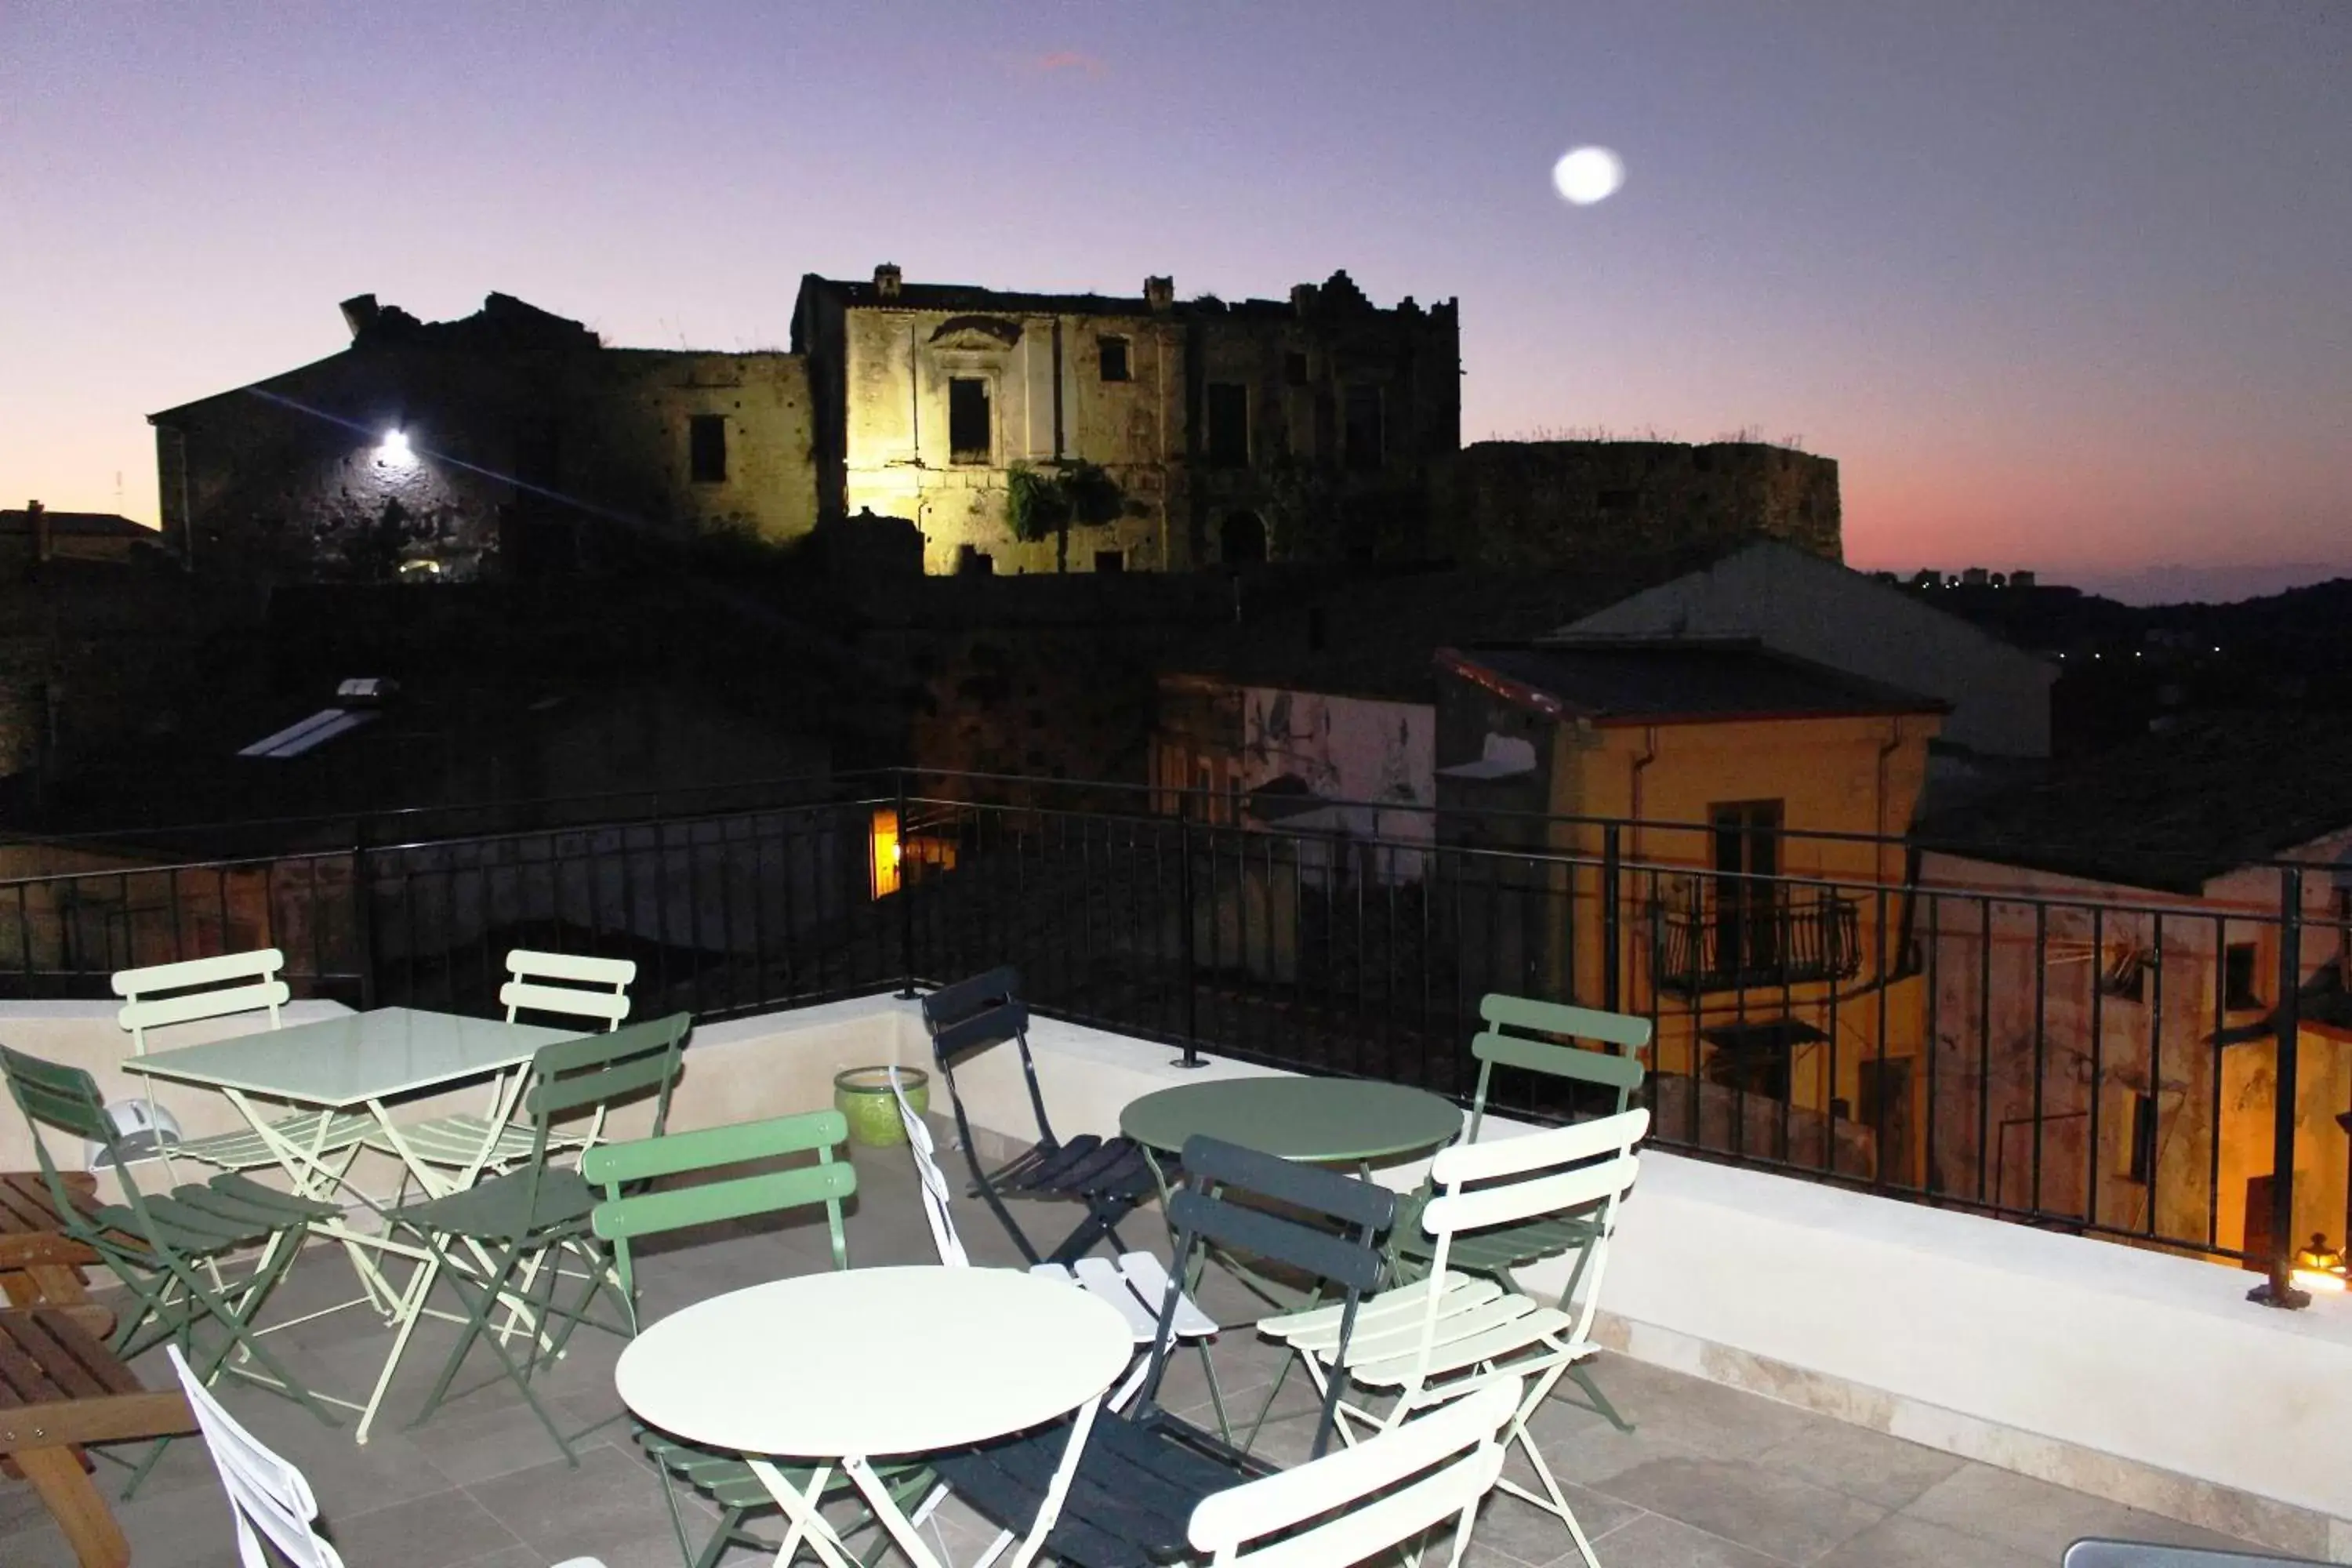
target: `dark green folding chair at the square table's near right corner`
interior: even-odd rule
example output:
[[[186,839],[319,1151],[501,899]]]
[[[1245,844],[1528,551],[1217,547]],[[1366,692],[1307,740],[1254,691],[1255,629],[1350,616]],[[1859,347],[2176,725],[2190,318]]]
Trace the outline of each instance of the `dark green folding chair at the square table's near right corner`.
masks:
[[[452,1399],[449,1385],[468,1352],[477,1340],[487,1340],[501,1373],[522,1389],[522,1399],[562,1448],[564,1460],[579,1465],[572,1441],[583,1434],[567,1436],[555,1425],[555,1418],[532,1392],[532,1375],[543,1361],[564,1352],[564,1342],[581,1324],[623,1338],[630,1328],[626,1319],[595,1316],[597,1298],[604,1291],[619,1295],[621,1284],[590,1232],[588,1215],[595,1211],[595,1192],[579,1171],[548,1159],[548,1128],[564,1117],[602,1114],[621,1100],[652,1093],[656,1095],[654,1135],[659,1138],[670,1119],[680,1041],[691,1023],[691,1013],[673,1013],[612,1034],[583,1034],[543,1046],[532,1058],[532,1077],[522,1091],[522,1114],[532,1124],[529,1159],[503,1175],[477,1180],[463,1192],[409,1204],[386,1215],[393,1227],[416,1232],[428,1251],[426,1262],[416,1267],[402,1293],[400,1338],[393,1356],[400,1356],[416,1319],[423,1316],[435,1279],[447,1279],[466,1307],[449,1361],[433,1382],[416,1420],[409,1422],[412,1429]],[[557,1253],[572,1253],[586,1267],[579,1274],[567,1274],[550,1265]],[[567,1279],[581,1284],[579,1298],[569,1302],[557,1300]],[[506,1324],[492,1328],[489,1319],[501,1305],[508,1307]],[[520,1361],[508,1347],[517,1328],[527,1338]]]

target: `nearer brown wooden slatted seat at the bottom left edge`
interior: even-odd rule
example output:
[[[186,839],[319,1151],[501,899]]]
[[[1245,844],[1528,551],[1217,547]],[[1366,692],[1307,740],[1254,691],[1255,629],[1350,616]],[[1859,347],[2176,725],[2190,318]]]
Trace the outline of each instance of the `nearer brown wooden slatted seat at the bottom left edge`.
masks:
[[[179,1389],[141,1387],[89,1331],[89,1312],[0,1312],[0,1455],[24,1469],[82,1568],[127,1568],[129,1542],[75,1446],[193,1432],[195,1415]]]

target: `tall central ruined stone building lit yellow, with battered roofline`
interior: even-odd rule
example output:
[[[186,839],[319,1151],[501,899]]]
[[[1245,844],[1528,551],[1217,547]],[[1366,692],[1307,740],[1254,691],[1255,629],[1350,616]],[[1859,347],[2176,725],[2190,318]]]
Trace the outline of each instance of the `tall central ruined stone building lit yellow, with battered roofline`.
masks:
[[[1376,308],[1348,273],[1289,301],[1009,294],[804,277],[818,503],[910,517],[929,571],[1190,569],[1425,552],[1461,447],[1454,301]],[[1021,470],[1091,465],[1108,512],[1014,529]],[[1108,487],[1105,487],[1108,489]]]

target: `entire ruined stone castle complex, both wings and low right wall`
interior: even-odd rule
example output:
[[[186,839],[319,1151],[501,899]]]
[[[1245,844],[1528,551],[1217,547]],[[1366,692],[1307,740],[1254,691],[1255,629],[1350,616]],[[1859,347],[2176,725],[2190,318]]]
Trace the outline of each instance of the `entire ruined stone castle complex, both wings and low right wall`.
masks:
[[[468,581],[898,517],[931,574],[1258,562],[1557,569],[1780,538],[1842,557],[1837,463],[1757,442],[1461,444],[1456,301],[1018,294],[802,277],[790,353],[609,348],[492,294],[372,294],[313,364],[148,416],[198,574]]]

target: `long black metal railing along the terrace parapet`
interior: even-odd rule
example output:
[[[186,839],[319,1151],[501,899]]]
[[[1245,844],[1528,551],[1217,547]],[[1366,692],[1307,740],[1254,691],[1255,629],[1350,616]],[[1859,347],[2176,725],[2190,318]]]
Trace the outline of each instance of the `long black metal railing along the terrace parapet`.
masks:
[[[2049,891],[1788,832],[1806,872],[1726,879],[1703,823],[1383,806],[1411,830],[1348,837],[1228,806],[898,771],[209,860],[92,837],[0,882],[0,997],[278,945],[299,994],[489,1011],[520,945],[633,957],[640,1011],[708,1020],[1016,964],[1040,1011],[1185,1060],[1465,1095],[1477,1001],[1517,992],[1651,1018],[1653,1138],[1705,1159],[2244,1260],[2279,1300],[2296,1244],[2352,1227],[2347,1107],[2312,1100],[2347,1063],[2298,1065],[2347,1048],[2303,1032],[2345,1009],[2347,947],[2307,867]],[[1496,1105],[1581,1110],[1522,1074]]]

